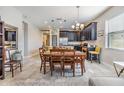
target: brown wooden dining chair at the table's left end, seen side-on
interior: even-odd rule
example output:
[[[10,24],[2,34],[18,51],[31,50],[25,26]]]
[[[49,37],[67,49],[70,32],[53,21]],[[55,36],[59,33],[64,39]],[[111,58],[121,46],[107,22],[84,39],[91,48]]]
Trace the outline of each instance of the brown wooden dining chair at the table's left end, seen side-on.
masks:
[[[39,54],[40,54],[40,59],[41,59],[41,66],[40,66],[40,72],[42,72],[42,67],[44,67],[44,74],[46,73],[46,64],[47,66],[50,67],[50,58],[49,56],[44,56],[45,49],[44,48],[39,48]]]

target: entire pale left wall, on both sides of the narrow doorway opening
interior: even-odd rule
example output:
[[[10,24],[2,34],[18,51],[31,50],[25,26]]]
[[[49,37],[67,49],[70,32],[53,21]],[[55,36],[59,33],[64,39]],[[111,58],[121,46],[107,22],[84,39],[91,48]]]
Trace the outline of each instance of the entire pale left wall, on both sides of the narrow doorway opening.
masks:
[[[24,54],[24,32],[22,22],[28,23],[28,56],[38,53],[41,47],[41,31],[37,29],[30,21],[23,18],[23,14],[15,7],[0,6],[0,16],[2,21],[12,26],[18,27],[18,48]]]

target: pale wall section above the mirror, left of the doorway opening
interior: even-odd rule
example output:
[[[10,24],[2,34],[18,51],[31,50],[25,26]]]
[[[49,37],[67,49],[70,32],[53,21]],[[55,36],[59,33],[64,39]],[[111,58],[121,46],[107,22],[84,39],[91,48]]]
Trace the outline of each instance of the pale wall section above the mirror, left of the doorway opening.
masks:
[[[22,31],[22,14],[13,7],[0,7],[0,16],[2,21],[12,26],[18,27],[18,48],[24,50],[23,31]]]

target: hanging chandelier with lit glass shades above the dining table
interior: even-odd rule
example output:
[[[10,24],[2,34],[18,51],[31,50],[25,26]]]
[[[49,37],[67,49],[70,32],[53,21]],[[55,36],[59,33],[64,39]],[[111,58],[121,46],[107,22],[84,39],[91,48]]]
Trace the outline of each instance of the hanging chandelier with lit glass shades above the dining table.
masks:
[[[84,28],[84,24],[81,24],[78,22],[79,21],[79,8],[80,8],[80,6],[76,6],[76,8],[77,8],[77,21],[76,21],[76,24],[72,25],[71,27],[73,30],[81,31]]]

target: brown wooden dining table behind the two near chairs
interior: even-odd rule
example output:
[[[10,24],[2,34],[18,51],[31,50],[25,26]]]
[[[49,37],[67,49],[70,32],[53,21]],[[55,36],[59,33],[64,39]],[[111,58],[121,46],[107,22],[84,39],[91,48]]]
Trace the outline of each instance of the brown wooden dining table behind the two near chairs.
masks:
[[[46,59],[50,59],[50,57],[51,57],[51,53],[50,53],[50,51],[46,51],[46,52],[44,52],[43,53],[43,56],[44,56],[44,58]],[[84,53],[84,52],[81,52],[81,51],[75,51],[75,57],[79,57],[79,58],[81,58],[81,60],[82,60],[82,62],[83,62],[83,68],[84,68],[84,72],[86,71],[85,70],[85,64],[84,64],[84,60],[86,59],[86,54]],[[50,61],[50,60],[49,60]],[[46,74],[46,61],[44,62],[44,74]]]

